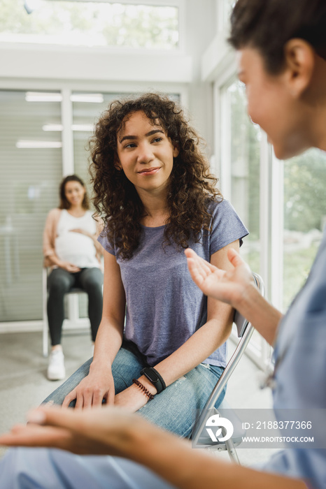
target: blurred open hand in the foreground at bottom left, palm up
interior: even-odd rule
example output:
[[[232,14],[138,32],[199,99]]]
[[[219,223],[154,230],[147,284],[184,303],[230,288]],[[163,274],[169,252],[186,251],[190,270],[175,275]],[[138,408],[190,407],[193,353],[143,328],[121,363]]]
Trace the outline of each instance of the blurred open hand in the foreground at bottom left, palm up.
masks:
[[[29,413],[27,425],[15,425],[0,436],[8,446],[48,446],[80,454],[122,455],[115,448],[129,425],[142,420],[113,407],[86,411],[40,407]]]

